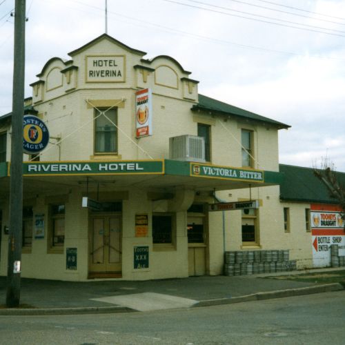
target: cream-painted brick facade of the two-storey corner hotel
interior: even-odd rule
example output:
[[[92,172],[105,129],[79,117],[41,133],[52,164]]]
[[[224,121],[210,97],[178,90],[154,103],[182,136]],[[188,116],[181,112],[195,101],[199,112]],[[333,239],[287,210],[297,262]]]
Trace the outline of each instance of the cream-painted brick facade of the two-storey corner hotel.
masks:
[[[39,80],[31,84],[32,107],[49,128],[50,144],[41,152],[39,161],[29,162],[28,155],[24,160],[27,166],[45,164],[45,169],[51,170],[24,174],[24,206],[32,209],[32,243],[23,248],[23,277],[83,281],[90,277],[136,280],[219,275],[223,273],[224,250],[289,249],[290,258],[300,260],[300,265],[311,264],[310,235],[284,232],[284,205],[277,185],[278,130],[288,126],[237,110],[231,113],[212,106],[204,109],[198,81],[190,79],[190,72],[175,59],[144,59],[145,52],[106,34],[69,55],[68,61],[50,59],[37,75]],[[152,91],[152,135],[137,138],[135,92],[146,88]],[[221,102],[217,105],[227,106]],[[95,109],[107,108],[117,111],[118,150],[97,153]],[[197,136],[198,124],[209,126],[210,161],[196,166],[188,160],[171,160],[169,138]],[[250,132],[251,167],[242,167],[243,130]],[[0,117],[1,132],[10,132],[8,118]],[[6,161],[10,161],[10,135],[7,140]],[[143,170],[142,174],[130,171],[145,161],[161,164],[162,169]],[[117,164],[130,165],[122,174],[109,170],[106,175],[89,170],[55,171],[61,169],[61,164],[112,164],[118,170]],[[4,167],[0,178],[1,275],[6,275],[8,250],[4,229],[8,227],[9,177],[8,165]],[[248,179],[200,176],[199,168],[214,174],[225,170],[230,174],[231,169],[240,174],[242,169],[257,175],[248,175]],[[260,174],[264,178],[255,180],[253,176]],[[102,205],[112,203],[111,207],[117,209],[82,207],[83,197]],[[242,210],[208,212],[208,204],[217,202],[216,198],[227,202],[259,200],[254,241],[242,241]],[[52,206],[61,204],[65,206],[64,214],[55,217]],[[144,235],[136,224],[141,215],[148,220]],[[52,222],[58,223],[59,217],[64,219],[63,243],[53,248]],[[154,243],[153,223],[154,219],[162,219],[159,217],[168,217],[171,222],[167,243]],[[43,228],[38,228],[37,220],[43,220]],[[193,227],[195,242],[190,238],[188,241],[188,229]],[[135,267],[137,247],[148,250],[144,252],[148,255],[148,262],[143,259],[144,267]],[[73,269],[68,267],[70,248],[77,252]],[[103,253],[102,258],[99,253]],[[107,259],[108,264],[101,262]]]

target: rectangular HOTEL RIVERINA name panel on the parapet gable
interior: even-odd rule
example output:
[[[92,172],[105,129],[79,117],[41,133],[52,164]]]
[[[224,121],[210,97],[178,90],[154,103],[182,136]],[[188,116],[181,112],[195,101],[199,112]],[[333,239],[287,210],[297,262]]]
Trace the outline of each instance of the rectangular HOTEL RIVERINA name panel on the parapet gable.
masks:
[[[126,57],[124,55],[88,55],[86,57],[87,83],[123,83]]]

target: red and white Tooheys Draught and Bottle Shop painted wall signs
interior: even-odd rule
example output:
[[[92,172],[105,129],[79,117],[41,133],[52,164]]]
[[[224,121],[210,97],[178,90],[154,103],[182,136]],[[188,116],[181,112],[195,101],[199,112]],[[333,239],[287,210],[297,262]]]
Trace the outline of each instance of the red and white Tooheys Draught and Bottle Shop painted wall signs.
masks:
[[[339,255],[345,255],[344,219],[338,206],[311,205],[313,266],[331,265],[331,245],[337,244]]]

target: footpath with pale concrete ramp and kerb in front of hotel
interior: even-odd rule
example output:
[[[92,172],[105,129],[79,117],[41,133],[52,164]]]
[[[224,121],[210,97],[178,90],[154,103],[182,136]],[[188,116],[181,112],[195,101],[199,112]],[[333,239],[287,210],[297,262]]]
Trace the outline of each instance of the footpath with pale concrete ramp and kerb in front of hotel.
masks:
[[[21,308],[4,308],[6,277],[0,277],[0,315],[119,313],[191,308],[344,290],[342,284],[315,284],[273,275],[331,273],[342,268],[237,277],[203,276],[129,282],[121,279],[61,282],[21,278]]]

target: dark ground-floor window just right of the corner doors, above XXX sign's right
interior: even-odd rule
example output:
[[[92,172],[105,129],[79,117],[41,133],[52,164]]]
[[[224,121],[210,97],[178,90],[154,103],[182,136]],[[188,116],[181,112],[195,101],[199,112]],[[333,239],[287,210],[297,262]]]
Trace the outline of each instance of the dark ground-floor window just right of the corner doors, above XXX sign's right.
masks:
[[[153,244],[173,244],[174,219],[172,215],[152,215]]]

